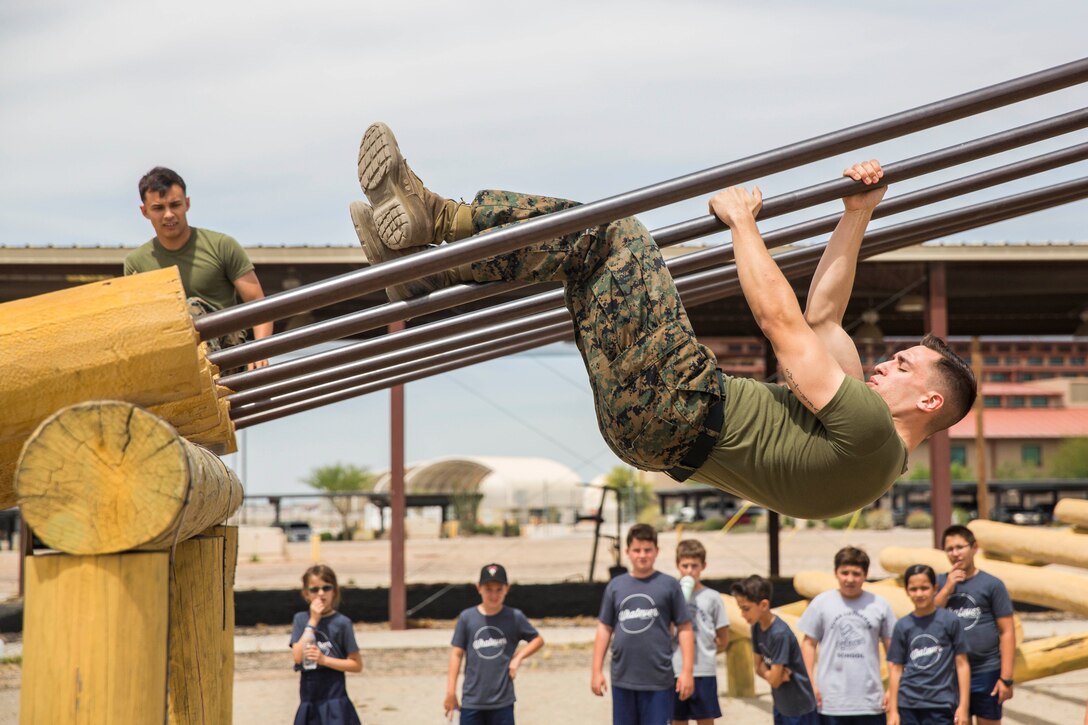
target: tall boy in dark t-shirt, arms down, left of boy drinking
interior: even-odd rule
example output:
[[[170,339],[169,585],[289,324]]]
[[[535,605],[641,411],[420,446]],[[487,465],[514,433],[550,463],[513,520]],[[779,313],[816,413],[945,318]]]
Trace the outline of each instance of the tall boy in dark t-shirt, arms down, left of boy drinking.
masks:
[[[694,638],[680,582],[654,570],[657,531],[635,524],[627,533],[631,573],[605,587],[593,644],[590,689],[605,693],[605,652],[611,640],[613,723],[660,725],[672,718],[672,692],[682,700],[694,687]],[[681,673],[672,674],[672,635],[680,640]]]

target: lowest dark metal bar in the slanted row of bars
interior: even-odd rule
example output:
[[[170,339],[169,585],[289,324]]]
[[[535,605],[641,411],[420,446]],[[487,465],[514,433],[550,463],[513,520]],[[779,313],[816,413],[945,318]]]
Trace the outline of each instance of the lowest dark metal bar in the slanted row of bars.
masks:
[[[1023,195],[1003,197],[993,201],[973,205],[962,209],[942,214],[936,214],[923,220],[905,222],[894,226],[885,228],[866,234],[866,243],[862,248],[862,258],[871,257],[895,248],[912,246],[929,238],[937,238],[948,233],[984,226],[1011,217],[1041,211],[1054,206],[1067,204],[1088,197],[1088,177],[1081,177],[1063,184],[1035,189]],[[1018,200],[1017,200],[1018,199]],[[783,274],[787,277],[801,277],[811,273],[823,254],[823,245],[809,249],[799,249],[795,251],[778,255],[776,259],[783,259],[787,263],[779,263]],[[683,285],[690,288],[690,294],[684,294],[684,304],[695,306],[713,302],[724,296],[740,292],[740,284],[737,281],[735,267],[731,266],[710,273],[692,274],[677,282],[678,288]],[[521,345],[511,346],[506,354],[530,349],[555,342],[557,337],[542,336],[535,342],[527,342]],[[330,393],[295,405],[283,406],[273,410],[268,410],[254,416],[239,417],[235,420],[235,426],[239,429],[255,426],[270,420],[276,420],[295,413],[311,410],[331,403],[349,400],[359,395],[383,390],[393,384],[400,384],[419,380],[424,377],[440,374],[449,370],[455,370],[467,365],[479,361],[494,359],[503,353],[490,353],[485,355],[469,356],[466,358],[452,358],[447,362],[428,368],[407,376],[398,376],[384,382],[374,382],[367,385],[357,386],[338,393]]]

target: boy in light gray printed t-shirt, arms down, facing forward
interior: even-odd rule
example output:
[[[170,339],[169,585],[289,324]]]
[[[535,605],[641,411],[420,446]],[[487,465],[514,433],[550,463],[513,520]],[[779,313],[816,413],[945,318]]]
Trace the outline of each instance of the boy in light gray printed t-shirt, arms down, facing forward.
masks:
[[[834,555],[839,588],[813,599],[798,622],[816,706],[824,720],[842,725],[885,722],[880,642],[888,648],[895,613],[886,599],[862,589],[868,573],[868,554],[854,546],[840,549]]]

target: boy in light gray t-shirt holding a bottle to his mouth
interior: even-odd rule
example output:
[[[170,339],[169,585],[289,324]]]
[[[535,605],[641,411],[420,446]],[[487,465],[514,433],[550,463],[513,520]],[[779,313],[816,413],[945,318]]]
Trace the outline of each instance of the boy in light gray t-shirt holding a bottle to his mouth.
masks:
[[[677,544],[677,568],[680,570],[680,589],[688,600],[688,615],[695,635],[695,689],[687,700],[677,695],[672,701],[672,723],[690,720],[709,723],[721,717],[718,704],[717,654],[729,643],[729,616],[721,594],[703,586],[706,568],[706,548],[694,539]],[[679,639],[672,641],[672,672],[679,678],[683,672],[683,656]]]

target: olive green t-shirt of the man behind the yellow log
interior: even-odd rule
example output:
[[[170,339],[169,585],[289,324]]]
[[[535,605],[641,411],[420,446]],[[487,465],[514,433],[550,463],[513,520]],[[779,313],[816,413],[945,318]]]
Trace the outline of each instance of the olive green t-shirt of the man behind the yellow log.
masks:
[[[159,237],[134,249],[125,257],[125,274],[176,266],[186,297],[200,297],[215,309],[238,304],[234,281],[254,269],[246,250],[233,236],[195,226],[191,232],[176,251]]]

